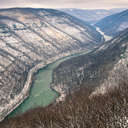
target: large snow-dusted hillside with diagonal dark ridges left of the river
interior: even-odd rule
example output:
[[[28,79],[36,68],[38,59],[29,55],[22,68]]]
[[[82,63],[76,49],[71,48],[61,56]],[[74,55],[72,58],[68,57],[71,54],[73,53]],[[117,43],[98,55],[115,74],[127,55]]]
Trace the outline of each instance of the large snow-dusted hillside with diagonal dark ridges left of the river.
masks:
[[[87,23],[57,10],[0,10],[0,120],[28,96],[35,71],[101,39]]]

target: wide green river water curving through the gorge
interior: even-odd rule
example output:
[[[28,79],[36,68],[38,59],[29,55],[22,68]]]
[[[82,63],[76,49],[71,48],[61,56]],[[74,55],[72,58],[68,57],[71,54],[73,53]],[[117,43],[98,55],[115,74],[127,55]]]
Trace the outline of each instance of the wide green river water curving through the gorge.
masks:
[[[22,114],[32,108],[47,106],[50,103],[54,102],[59,94],[50,88],[53,69],[57,67],[61,62],[85,53],[87,53],[87,51],[64,57],[40,69],[35,75],[35,81],[31,87],[29,97],[21,105],[19,105],[19,107],[17,107],[7,118]]]

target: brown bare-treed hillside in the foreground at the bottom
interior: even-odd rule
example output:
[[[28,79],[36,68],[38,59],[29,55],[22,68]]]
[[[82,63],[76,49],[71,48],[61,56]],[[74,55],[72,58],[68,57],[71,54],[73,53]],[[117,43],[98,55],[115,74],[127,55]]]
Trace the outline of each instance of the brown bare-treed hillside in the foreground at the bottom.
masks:
[[[0,123],[0,128],[127,128],[128,84],[89,97],[94,88],[79,88],[65,102],[37,108]]]

